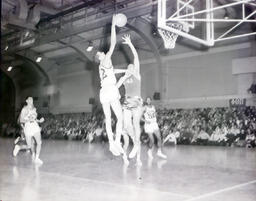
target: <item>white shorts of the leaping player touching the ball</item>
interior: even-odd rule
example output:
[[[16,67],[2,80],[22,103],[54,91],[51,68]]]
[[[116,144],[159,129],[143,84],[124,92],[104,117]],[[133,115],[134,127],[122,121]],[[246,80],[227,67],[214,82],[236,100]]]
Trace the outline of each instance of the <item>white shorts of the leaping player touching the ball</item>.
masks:
[[[119,90],[115,85],[104,86],[100,89],[100,102],[110,103],[120,99]]]

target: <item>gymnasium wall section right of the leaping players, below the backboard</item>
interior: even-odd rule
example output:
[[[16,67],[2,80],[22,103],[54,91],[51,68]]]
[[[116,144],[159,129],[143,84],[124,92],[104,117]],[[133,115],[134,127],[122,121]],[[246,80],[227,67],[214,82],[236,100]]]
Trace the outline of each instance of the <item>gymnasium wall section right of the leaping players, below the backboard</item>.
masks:
[[[240,76],[232,73],[233,60],[249,56],[250,43],[243,43],[163,57],[162,75],[155,77],[163,83],[161,101],[156,104],[174,108],[229,106],[229,99],[241,94]],[[149,66],[152,75],[155,64],[142,68]],[[153,94],[152,77],[149,72],[144,75],[144,90]],[[248,96],[247,92],[244,96]]]

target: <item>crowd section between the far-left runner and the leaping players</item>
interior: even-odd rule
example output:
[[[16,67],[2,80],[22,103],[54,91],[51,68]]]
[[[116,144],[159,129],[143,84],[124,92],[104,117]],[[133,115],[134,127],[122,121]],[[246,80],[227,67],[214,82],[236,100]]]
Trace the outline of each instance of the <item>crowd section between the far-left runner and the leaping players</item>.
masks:
[[[103,115],[91,113],[69,113],[46,115],[42,126],[42,137],[46,139],[105,141]],[[99,140],[100,140],[99,139]],[[98,139],[97,139],[98,140]]]

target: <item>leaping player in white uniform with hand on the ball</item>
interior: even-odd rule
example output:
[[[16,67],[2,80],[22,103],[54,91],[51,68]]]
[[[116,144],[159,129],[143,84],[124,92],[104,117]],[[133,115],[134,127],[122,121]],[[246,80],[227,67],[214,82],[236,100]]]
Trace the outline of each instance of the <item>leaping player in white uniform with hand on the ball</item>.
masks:
[[[116,86],[116,77],[111,61],[111,56],[113,54],[116,45],[116,15],[113,15],[112,27],[111,27],[111,41],[110,48],[105,54],[104,52],[98,51],[96,53],[96,58],[99,60],[99,74],[101,80],[100,89],[100,102],[102,104],[103,112],[106,121],[106,132],[109,140],[110,151],[118,156],[123,153],[123,149],[120,143],[122,128],[123,128],[123,116],[122,107],[120,103],[120,94]],[[113,109],[116,118],[116,138],[114,142],[113,132],[111,128],[111,108]]]

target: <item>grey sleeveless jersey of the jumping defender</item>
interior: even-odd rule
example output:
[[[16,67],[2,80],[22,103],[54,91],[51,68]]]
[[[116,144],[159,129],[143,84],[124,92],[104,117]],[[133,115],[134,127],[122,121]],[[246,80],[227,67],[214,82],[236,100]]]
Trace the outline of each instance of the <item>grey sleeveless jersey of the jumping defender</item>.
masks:
[[[141,97],[141,81],[131,76],[124,82],[126,97]]]

